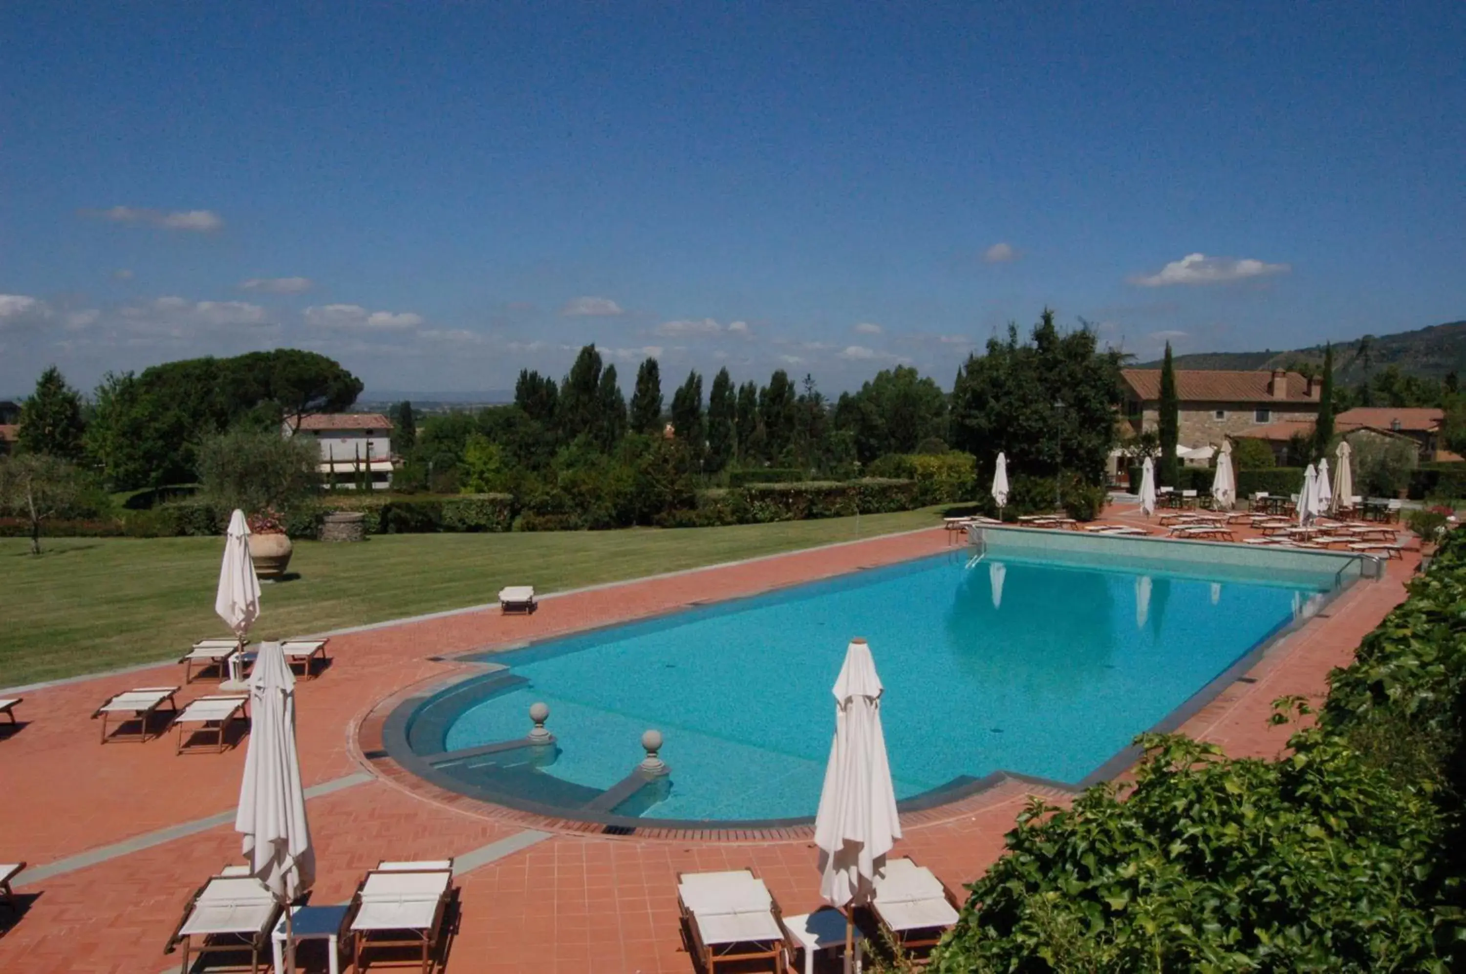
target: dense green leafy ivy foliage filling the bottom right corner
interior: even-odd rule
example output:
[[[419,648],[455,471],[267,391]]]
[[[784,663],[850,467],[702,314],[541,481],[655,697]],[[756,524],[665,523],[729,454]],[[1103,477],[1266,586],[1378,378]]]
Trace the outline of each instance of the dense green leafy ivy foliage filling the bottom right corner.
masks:
[[[1281,760],[1145,735],[1133,785],[1031,804],[932,970],[1463,970],[1463,687],[1456,533]]]

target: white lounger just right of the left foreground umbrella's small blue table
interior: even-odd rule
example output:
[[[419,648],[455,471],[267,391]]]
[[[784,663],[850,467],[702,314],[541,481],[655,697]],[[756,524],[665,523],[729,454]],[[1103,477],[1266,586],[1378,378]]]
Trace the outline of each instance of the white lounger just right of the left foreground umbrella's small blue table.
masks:
[[[453,860],[378,863],[356,886],[347,911],[356,970],[366,968],[365,951],[418,948],[428,974],[452,896]]]

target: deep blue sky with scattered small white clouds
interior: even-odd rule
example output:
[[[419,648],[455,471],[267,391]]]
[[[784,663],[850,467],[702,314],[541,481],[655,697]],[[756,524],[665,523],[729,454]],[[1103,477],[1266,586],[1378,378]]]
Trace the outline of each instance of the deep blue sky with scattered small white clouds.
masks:
[[[0,393],[487,390],[1466,318],[1466,6],[4,4]],[[1199,256],[1198,256],[1199,255]]]

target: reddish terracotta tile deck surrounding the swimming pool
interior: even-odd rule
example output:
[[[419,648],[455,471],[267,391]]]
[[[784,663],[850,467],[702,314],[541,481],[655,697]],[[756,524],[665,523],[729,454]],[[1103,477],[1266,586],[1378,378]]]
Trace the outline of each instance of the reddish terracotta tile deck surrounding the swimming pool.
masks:
[[[1105,520],[1138,521],[1129,513]],[[531,617],[476,611],[333,637],[333,665],[298,684],[301,766],[318,848],[314,901],[346,901],[381,858],[457,857],[469,869],[457,880],[462,923],[447,958],[454,973],[690,971],[677,927],[679,870],[754,866],[784,912],[818,907],[812,845],[798,829],[777,838],[560,829],[403,784],[359,741],[369,750],[384,700],[460,675],[463,663],[446,659],[453,653],[752,595],[946,545],[946,533],[932,529],[567,593],[544,599]],[[1290,693],[1321,697],[1328,669],[1347,663],[1363,634],[1404,598],[1418,561],[1418,552],[1406,552],[1388,562],[1385,579],[1331,602],[1183,731],[1233,754],[1277,754],[1287,731],[1267,725],[1270,702]],[[103,746],[89,715],[119,690],[182,684],[182,671],[167,665],[32,690],[19,707],[22,726],[0,731],[0,860],[31,864],[16,888],[23,915],[12,921],[0,910],[0,924],[9,926],[0,971],[177,970],[177,955],[161,951],[183,904],[220,866],[239,861],[232,811],[245,748],[174,756],[174,731],[145,744]],[[186,685],[180,705],[211,690],[208,678]],[[905,816],[899,851],[953,888],[972,882],[1000,855],[1003,833],[1032,792],[1063,800],[1058,791],[1009,782]]]

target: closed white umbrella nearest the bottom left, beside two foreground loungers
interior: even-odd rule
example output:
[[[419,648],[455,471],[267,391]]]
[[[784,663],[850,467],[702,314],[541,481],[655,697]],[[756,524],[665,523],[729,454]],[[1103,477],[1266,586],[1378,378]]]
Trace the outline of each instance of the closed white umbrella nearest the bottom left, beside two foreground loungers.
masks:
[[[295,750],[295,674],[274,642],[261,643],[249,675],[249,751],[235,832],[245,836],[251,873],[280,899],[289,917],[290,902],[315,880],[315,850]]]

